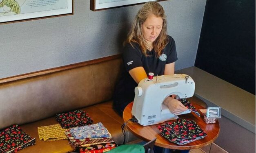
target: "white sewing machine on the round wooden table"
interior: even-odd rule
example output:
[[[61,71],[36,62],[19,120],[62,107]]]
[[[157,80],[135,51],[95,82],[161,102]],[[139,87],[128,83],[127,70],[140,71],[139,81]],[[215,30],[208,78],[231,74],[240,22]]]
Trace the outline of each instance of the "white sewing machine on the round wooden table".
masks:
[[[163,104],[164,99],[170,95],[179,98],[189,98],[194,95],[195,82],[186,74],[163,75],[145,78],[135,88],[134,104],[131,114],[142,126],[154,125],[166,120],[173,120],[178,116],[172,114]],[[187,109],[181,114],[191,111]]]

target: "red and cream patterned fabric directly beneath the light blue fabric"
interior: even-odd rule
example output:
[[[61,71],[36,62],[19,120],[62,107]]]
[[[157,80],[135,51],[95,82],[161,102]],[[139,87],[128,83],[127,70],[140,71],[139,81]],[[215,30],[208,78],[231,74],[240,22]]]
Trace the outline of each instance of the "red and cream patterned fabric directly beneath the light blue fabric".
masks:
[[[77,148],[79,146],[83,146],[85,144],[93,144],[97,142],[112,142],[111,135],[106,138],[85,138],[85,139],[75,139],[69,130],[65,131],[67,138],[69,139],[70,144]]]

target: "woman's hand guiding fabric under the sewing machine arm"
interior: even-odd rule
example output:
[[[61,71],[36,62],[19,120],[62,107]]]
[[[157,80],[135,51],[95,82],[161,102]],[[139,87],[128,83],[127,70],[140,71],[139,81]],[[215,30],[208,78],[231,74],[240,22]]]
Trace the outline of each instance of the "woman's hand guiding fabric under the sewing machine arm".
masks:
[[[174,115],[179,115],[183,111],[187,110],[187,107],[185,107],[180,101],[169,96],[165,98],[164,104],[167,105],[171,113]]]

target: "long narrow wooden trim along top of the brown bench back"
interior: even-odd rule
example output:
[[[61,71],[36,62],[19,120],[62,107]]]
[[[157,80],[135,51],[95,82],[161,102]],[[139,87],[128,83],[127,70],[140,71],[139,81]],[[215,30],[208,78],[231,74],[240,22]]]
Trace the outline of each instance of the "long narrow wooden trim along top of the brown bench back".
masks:
[[[100,59],[93,59],[90,61],[74,63],[74,64],[70,64],[67,66],[60,66],[60,67],[56,67],[56,68],[50,68],[50,69],[46,69],[46,70],[40,70],[40,71],[36,71],[36,72],[30,72],[30,73],[26,73],[26,74],[20,74],[20,75],[16,75],[16,76],[12,76],[12,77],[2,78],[2,79],[0,79],[0,84],[11,82],[11,81],[17,81],[17,80],[21,80],[21,79],[27,79],[27,78],[31,78],[31,77],[37,77],[40,75],[50,74],[50,73],[54,73],[54,72],[60,72],[60,71],[69,70],[69,69],[73,69],[73,68],[79,68],[82,66],[87,66],[87,65],[91,65],[91,64],[104,62],[104,61],[118,59],[120,57],[121,57],[121,54],[112,55],[112,56],[108,56],[108,57],[102,57]]]

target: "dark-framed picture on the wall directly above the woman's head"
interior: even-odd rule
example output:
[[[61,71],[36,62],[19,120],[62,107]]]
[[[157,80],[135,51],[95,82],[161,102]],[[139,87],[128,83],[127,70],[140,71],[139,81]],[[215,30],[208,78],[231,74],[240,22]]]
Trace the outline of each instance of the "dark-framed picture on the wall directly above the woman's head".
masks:
[[[149,1],[164,1],[164,0],[91,0],[90,9],[99,11],[104,9],[125,7],[136,4],[142,4]]]

